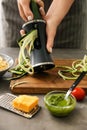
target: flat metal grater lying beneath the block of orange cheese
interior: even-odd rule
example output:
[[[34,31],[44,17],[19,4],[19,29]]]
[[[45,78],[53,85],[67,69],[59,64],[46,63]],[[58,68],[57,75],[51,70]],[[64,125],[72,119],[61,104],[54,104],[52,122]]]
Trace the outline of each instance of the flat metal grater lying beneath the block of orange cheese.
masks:
[[[26,118],[32,118],[41,109],[41,107],[38,105],[29,113],[24,113],[22,111],[18,111],[16,109],[14,109],[11,105],[12,100],[15,98],[16,98],[16,96],[13,94],[10,94],[10,93],[5,93],[4,95],[1,95],[0,96],[0,107],[7,109],[11,112],[14,112],[18,115],[21,115],[23,117],[26,117]]]

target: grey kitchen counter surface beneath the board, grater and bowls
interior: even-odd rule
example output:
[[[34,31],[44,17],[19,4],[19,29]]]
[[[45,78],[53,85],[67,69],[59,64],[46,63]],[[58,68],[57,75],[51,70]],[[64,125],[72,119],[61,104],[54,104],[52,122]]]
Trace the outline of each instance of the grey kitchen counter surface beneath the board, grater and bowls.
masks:
[[[18,48],[3,48],[0,53],[11,56],[14,60],[18,56]],[[76,59],[83,58],[87,50],[55,49],[53,58]],[[8,76],[8,74],[7,74]],[[0,95],[11,93],[9,81],[0,80]],[[27,119],[0,108],[0,130],[86,130],[87,129],[87,96],[84,101],[77,102],[76,109],[67,117],[57,118],[52,116],[44,105],[44,95],[40,98],[41,110],[33,118]]]

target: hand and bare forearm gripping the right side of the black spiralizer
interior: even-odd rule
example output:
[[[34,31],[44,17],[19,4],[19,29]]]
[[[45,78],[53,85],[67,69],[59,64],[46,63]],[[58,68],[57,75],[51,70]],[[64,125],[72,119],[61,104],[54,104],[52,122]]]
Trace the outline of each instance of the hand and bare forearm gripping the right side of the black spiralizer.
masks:
[[[74,0],[53,0],[47,11],[45,20],[47,23],[47,50],[49,52],[52,52],[56,30],[65,15],[68,13],[73,2]]]

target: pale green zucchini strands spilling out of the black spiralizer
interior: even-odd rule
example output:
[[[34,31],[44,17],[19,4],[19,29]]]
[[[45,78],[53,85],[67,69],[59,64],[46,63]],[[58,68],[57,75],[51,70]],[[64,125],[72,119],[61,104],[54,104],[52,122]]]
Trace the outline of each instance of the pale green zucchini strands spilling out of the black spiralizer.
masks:
[[[20,47],[18,64],[9,70],[9,72],[16,74],[15,78],[20,78],[25,74],[34,74],[34,69],[30,64],[30,53],[34,49],[34,41],[38,37],[37,30],[32,30],[28,34],[24,35],[19,41],[18,45]]]

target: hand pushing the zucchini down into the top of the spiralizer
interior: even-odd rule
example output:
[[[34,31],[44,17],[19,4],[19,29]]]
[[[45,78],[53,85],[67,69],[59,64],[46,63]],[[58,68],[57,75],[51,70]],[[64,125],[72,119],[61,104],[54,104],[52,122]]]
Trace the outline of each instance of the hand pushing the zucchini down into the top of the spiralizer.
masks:
[[[40,13],[42,16],[45,15],[44,11],[44,3],[42,0],[36,0],[37,4],[39,5]],[[21,18],[24,21],[30,21],[33,19],[33,13],[30,9],[30,0],[17,0],[18,9]]]

